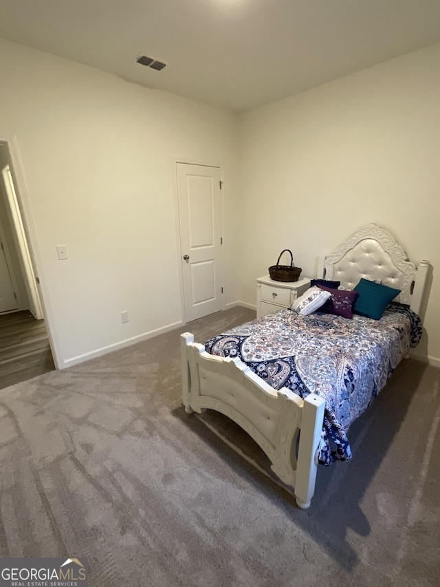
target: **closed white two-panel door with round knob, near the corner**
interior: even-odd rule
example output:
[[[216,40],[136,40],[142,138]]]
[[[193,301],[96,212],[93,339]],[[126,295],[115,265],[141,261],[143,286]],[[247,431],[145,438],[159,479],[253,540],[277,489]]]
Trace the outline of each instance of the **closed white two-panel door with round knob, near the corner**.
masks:
[[[222,308],[220,169],[177,163],[186,322]]]

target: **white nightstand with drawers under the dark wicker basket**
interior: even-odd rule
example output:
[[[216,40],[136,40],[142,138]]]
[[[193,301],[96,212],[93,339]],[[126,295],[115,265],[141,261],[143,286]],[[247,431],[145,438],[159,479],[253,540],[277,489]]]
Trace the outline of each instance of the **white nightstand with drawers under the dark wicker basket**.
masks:
[[[269,275],[259,277],[256,280],[256,317],[261,318],[281,308],[287,308],[309,287],[308,277],[298,281],[274,281]]]

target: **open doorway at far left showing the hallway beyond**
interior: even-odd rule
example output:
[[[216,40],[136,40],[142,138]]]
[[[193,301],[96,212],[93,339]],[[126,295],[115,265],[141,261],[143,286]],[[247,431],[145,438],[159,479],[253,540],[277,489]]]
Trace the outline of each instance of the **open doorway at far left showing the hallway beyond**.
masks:
[[[0,140],[0,389],[56,368],[15,177]]]

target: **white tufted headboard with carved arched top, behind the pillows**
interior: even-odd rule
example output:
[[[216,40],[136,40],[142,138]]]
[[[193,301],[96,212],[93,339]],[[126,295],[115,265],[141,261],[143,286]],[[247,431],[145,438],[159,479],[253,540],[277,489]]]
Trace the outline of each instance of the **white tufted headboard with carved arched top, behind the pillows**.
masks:
[[[353,289],[361,277],[401,290],[396,301],[408,304],[419,314],[428,262],[419,267],[408,256],[395,238],[377,224],[365,224],[353,232],[327,255],[322,276],[341,282]]]

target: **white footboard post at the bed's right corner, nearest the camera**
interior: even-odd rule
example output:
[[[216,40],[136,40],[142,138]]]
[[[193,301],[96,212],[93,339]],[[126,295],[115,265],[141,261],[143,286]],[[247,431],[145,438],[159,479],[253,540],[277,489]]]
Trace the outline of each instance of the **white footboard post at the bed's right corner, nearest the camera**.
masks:
[[[301,509],[310,506],[315,493],[324,407],[325,399],[315,394],[310,394],[304,400],[294,488],[296,503]]]

